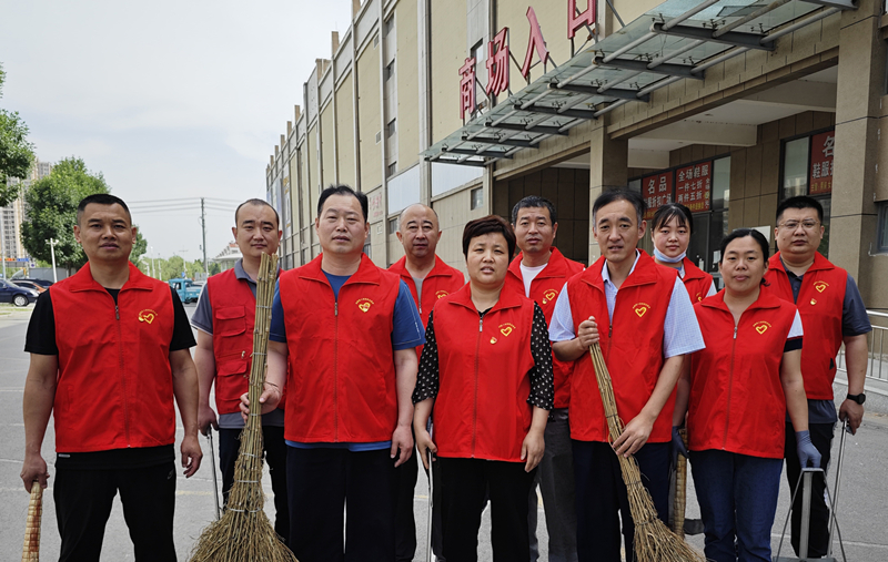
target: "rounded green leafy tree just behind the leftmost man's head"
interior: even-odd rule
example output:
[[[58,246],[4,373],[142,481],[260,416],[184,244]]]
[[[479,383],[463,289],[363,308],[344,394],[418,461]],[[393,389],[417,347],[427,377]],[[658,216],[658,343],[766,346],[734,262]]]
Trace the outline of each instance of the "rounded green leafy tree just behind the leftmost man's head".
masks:
[[[87,256],[74,239],[77,205],[95,193],[110,190],[102,177],[87,170],[81,159],[70,157],[57,164],[50,175],[24,192],[26,213],[21,224],[22,245],[28,254],[49,262],[47,241],[56,238],[56,264],[72,269],[87,263]]]

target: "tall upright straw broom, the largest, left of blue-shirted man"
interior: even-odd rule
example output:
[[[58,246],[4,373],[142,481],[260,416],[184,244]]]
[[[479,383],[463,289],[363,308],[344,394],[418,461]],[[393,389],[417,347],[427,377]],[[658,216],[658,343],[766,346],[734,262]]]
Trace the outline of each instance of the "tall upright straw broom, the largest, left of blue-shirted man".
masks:
[[[256,319],[253,330],[253,367],[248,397],[252,411],[241,432],[234,466],[234,484],[222,519],[203,530],[191,555],[192,562],[297,562],[269,521],[262,493],[262,415],[259,398],[265,382],[271,325],[271,305],[278,256],[262,255],[256,278]]]

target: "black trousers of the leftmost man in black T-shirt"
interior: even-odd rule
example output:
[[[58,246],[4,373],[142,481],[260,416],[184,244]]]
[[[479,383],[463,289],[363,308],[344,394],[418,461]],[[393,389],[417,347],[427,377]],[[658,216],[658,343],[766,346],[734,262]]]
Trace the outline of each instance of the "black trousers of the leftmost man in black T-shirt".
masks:
[[[62,539],[60,562],[98,562],[120,492],[137,562],[175,562],[175,464],[121,470],[57,468],[52,497]]]

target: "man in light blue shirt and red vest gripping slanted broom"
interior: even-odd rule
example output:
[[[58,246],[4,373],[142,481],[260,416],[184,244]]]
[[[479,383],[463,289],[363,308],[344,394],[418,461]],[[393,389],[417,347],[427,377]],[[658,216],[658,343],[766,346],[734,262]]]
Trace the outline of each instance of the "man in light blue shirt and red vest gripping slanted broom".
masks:
[[[602,257],[565,284],[549,325],[555,357],[575,361],[569,413],[581,562],[620,560],[620,519],[626,560],[635,559],[635,525],[615,451],[635,456],[642,482],[666,520],[675,385],[684,356],[704,348],[677,272],[636,249],[645,234],[644,212],[644,200],[634,192],[607,191],[595,200],[593,232]],[[626,423],[613,448],[589,358],[596,341]]]

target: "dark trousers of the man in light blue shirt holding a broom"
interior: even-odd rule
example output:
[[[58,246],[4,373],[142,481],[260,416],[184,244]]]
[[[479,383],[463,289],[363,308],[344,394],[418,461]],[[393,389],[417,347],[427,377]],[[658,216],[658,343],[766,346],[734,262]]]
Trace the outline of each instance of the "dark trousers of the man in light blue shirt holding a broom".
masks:
[[[650,492],[657,515],[668,517],[670,443],[647,443],[635,453],[642,483]],[[619,562],[619,533],[626,561],[635,560],[635,524],[629,511],[619,460],[609,443],[573,441],[576,479],[576,551],[581,562]]]

